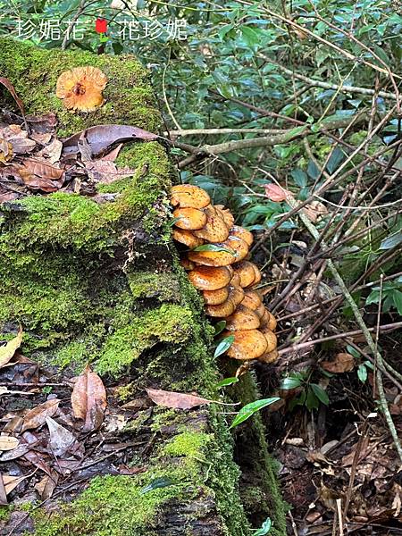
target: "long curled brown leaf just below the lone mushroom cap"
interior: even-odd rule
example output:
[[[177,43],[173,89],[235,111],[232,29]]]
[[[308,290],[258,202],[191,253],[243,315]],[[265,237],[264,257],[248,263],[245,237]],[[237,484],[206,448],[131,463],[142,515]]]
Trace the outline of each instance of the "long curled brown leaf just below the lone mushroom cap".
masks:
[[[121,141],[152,141],[158,138],[157,134],[129,125],[96,125],[65,139],[63,154],[79,153],[79,140],[82,136],[87,139],[92,155],[99,155],[114,143]]]

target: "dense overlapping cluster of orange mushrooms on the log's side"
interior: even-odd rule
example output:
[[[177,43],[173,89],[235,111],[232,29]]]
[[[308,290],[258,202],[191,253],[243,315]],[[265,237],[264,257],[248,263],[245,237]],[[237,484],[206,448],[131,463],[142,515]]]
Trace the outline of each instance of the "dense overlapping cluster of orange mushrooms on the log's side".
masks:
[[[262,293],[255,289],[261,272],[247,260],[253,234],[234,225],[228,209],[212,205],[203,188],[173,186],[171,203],[173,239],[186,247],[181,265],[202,293],[205,313],[224,319],[223,336],[234,337],[227,355],[241,361],[275,361],[276,320],[264,306]],[[208,244],[212,247],[206,247]]]

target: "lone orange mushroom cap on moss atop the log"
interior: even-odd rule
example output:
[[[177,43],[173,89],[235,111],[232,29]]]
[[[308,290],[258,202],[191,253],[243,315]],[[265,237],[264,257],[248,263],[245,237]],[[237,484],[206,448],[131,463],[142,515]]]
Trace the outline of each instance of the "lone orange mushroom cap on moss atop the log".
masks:
[[[57,79],[56,96],[63,99],[69,110],[92,112],[104,103],[102,90],[107,77],[97,67],[76,67],[64,71]]]

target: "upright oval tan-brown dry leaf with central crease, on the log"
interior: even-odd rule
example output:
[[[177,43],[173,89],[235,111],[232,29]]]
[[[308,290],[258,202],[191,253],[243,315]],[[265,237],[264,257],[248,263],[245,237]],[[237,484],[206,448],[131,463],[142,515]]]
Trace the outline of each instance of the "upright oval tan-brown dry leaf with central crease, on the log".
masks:
[[[84,421],[82,431],[97,430],[104,421],[107,406],[104,382],[89,366],[80,374],[71,393],[72,412]]]

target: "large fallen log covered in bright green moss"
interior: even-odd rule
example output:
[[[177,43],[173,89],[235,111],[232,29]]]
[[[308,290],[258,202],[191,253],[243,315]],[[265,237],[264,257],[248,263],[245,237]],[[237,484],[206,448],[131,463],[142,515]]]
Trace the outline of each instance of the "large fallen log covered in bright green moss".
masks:
[[[61,72],[81,65],[94,65],[109,79],[105,105],[94,113],[70,113],[55,96]],[[105,123],[154,132],[160,127],[147,71],[132,56],[46,51],[2,38],[0,74],[11,80],[27,113],[57,114],[59,137]],[[0,96],[2,108],[18,113],[5,90]],[[105,380],[128,378],[133,398],[144,398],[144,389],[152,387],[217,399],[213,330],[171,239],[168,199],[175,170],[156,142],[124,147],[116,163],[135,172],[98,187],[119,194],[114,201],[99,204],[59,192],[2,207],[2,332],[12,334],[21,323],[25,355],[76,372],[89,361]],[[249,374],[238,386],[232,396],[242,403],[256,397]],[[33,509],[29,532],[240,536],[252,534],[252,513],[253,523],[272,518],[271,536],[285,535],[284,507],[258,415],[237,432],[245,449],[237,456],[240,465],[246,460],[243,473],[222,406],[186,412],[156,406],[142,416],[139,409],[131,433],[133,439],[148,435],[149,442],[133,462],[147,470],[133,476],[99,472],[80,493]],[[141,492],[166,478],[169,486]],[[13,528],[18,511],[14,507],[2,533]],[[13,534],[26,528],[22,523]]]

